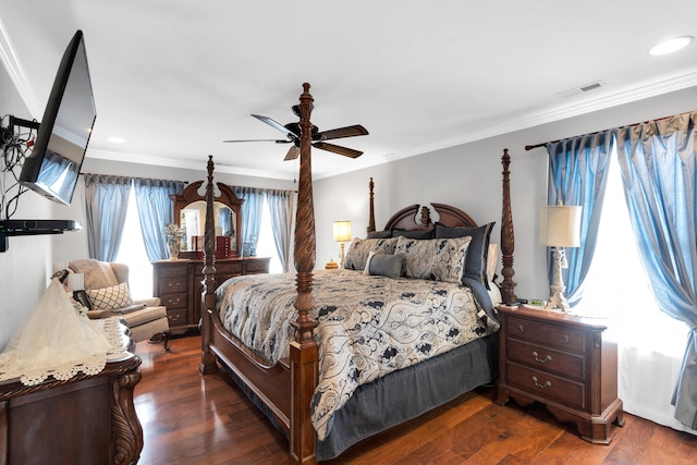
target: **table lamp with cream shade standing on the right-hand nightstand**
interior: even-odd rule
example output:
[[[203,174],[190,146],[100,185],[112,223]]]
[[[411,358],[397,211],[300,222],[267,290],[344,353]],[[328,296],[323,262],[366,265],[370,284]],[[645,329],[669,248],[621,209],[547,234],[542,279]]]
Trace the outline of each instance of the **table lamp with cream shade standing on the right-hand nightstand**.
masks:
[[[566,268],[564,247],[580,245],[580,213],[583,207],[557,206],[540,208],[539,243],[553,249],[554,274],[550,284],[550,297],[545,309],[558,308],[568,311],[568,302],[564,296],[566,286],[562,280],[562,268]]]

